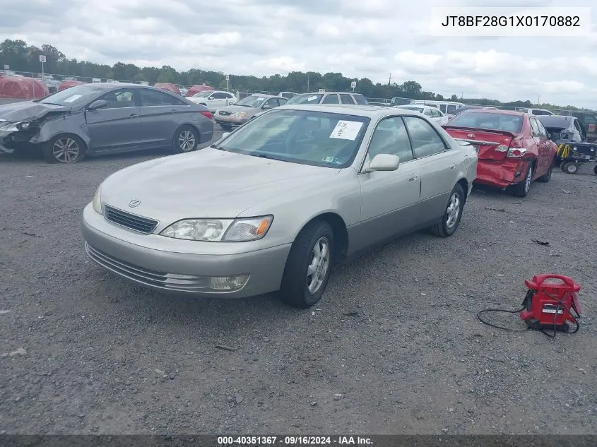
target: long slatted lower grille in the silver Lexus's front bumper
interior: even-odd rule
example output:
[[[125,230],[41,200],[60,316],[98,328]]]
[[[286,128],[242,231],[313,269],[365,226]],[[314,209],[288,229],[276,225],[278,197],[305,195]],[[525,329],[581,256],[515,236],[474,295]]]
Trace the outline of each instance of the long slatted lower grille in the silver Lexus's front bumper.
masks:
[[[85,251],[87,251],[88,256],[93,261],[100,264],[103,268],[112,270],[112,272],[124,276],[124,278],[128,278],[129,280],[141,282],[144,285],[179,292],[198,292],[209,288],[209,278],[207,276],[178,275],[176,273],[148,270],[114,258],[90,246],[87,242],[85,242]]]

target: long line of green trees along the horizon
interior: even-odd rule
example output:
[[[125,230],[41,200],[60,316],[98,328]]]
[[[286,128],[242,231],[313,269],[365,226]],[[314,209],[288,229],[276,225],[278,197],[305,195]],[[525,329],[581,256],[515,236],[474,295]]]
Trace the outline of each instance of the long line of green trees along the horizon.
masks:
[[[146,81],[149,83],[175,83],[181,85],[212,85],[216,88],[226,88],[225,73],[206,71],[201,68],[191,68],[179,73],[171,66],[138,67],[126,62],[117,62],[113,66],[95,64],[88,61],[68,59],[56,47],[43,44],[41,47],[28,46],[23,40],[4,40],[0,43],[0,70],[3,64],[10,66],[13,71],[39,73],[41,71],[40,54],[46,56],[45,73],[64,76],[79,76],[87,78],[116,79],[118,81]],[[231,90],[259,90],[264,92],[295,92],[305,93],[326,90],[350,91],[350,83],[356,81],[355,93],[361,93],[370,98],[408,97],[413,100],[443,100],[442,95],[422,90],[420,83],[405,81],[402,84],[374,83],[368,78],[346,78],[342,73],[317,73],[308,71],[291,71],[288,75],[273,76],[239,76],[230,75]],[[461,101],[458,95],[451,95],[451,101]],[[463,102],[482,105],[502,105],[497,100],[470,98]],[[533,107],[530,101],[514,101],[507,103],[517,107]],[[542,105],[550,107],[550,105]],[[572,108],[572,107],[566,107]]]

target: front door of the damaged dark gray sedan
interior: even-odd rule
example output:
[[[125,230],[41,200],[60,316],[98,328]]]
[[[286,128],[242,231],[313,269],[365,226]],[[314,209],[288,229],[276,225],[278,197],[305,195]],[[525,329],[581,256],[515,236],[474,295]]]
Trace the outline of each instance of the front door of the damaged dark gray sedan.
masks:
[[[97,152],[130,148],[141,141],[141,107],[134,89],[112,90],[97,100],[103,109],[85,111],[90,146]]]

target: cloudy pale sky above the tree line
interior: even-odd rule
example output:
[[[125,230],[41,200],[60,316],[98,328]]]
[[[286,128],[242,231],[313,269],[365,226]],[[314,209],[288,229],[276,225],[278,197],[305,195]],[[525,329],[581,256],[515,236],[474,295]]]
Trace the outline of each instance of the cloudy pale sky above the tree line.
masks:
[[[566,6],[591,6],[570,0]],[[410,6],[407,6],[410,5]],[[586,37],[439,37],[434,6],[550,0],[0,0],[0,41],[70,58],[257,76],[341,72],[442,95],[597,108],[597,26]],[[592,22],[597,23],[597,7]]]

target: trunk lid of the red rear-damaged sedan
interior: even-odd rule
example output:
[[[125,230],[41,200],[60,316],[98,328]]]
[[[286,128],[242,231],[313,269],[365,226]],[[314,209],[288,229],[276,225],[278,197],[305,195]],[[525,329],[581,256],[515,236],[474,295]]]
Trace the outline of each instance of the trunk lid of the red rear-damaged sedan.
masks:
[[[508,131],[466,129],[443,126],[449,136],[471,143],[477,149],[479,160],[502,160],[516,134]]]

